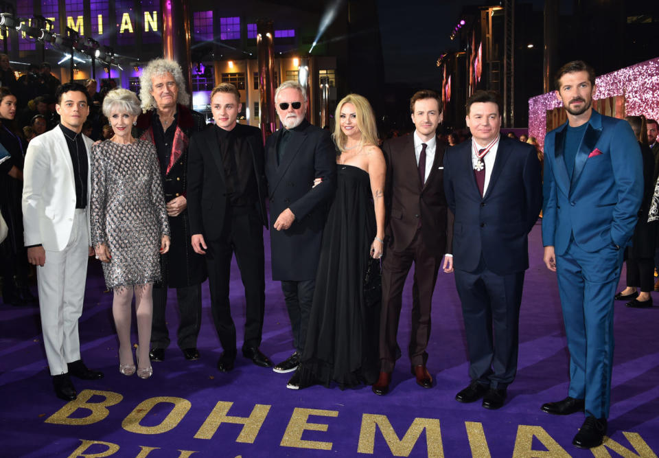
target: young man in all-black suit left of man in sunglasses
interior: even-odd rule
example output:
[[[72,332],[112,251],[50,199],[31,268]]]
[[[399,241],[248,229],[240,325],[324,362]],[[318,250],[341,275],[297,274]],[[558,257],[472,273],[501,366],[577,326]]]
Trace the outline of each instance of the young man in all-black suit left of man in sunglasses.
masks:
[[[272,363],[259,350],[265,306],[263,227],[268,227],[261,130],[238,124],[242,104],[233,84],[211,93],[216,125],[192,137],[187,165],[187,208],[192,248],[206,256],[213,322],[224,352],[218,369],[233,369],[237,353],[229,305],[231,257],[245,287],[242,354],[256,365]]]

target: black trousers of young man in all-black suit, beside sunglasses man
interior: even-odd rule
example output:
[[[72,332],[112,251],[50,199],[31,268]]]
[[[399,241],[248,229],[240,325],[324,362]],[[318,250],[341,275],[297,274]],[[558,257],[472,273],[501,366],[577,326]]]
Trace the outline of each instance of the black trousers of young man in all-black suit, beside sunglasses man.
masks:
[[[255,210],[246,213],[227,211],[222,234],[217,240],[206,240],[208,283],[211,290],[211,312],[222,349],[236,352],[235,324],[229,304],[231,257],[240,269],[245,288],[245,336],[243,349],[261,345],[266,304],[264,272],[263,224]]]

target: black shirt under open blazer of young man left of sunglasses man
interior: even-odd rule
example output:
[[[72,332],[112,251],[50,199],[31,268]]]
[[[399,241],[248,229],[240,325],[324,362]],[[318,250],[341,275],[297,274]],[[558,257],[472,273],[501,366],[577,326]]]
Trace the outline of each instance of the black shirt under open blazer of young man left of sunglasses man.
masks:
[[[259,200],[252,152],[240,128],[224,130],[215,126],[224,166],[224,185],[233,207],[253,207]]]

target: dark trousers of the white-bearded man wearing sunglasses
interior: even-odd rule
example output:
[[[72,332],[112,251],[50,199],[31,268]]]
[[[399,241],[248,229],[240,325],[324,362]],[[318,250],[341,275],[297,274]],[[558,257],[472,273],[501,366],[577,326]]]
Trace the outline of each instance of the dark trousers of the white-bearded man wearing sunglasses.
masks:
[[[293,346],[300,354],[304,350],[304,343],[307,339],[309,315],[314,302],[315,289],[316,280],[281,282],[281,290],[284,291],[284,301],[286,301],[290,327],[293,332]]]

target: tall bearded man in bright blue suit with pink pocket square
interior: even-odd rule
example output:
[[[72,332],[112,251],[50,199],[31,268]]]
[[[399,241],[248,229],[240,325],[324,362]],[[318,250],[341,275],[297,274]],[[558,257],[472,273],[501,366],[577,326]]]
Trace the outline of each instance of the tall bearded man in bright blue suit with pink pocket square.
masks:
[[[556,77],[568,122],[544,140],[544,263],[557,272],[570,350],[568,397],[542,410],[586,411],[573,444],[599,446],[606,434],[613,363],[613,298],[623,251],[643,198],[638,141],[624,119],[592,109],[595,75],[581,60]]]

